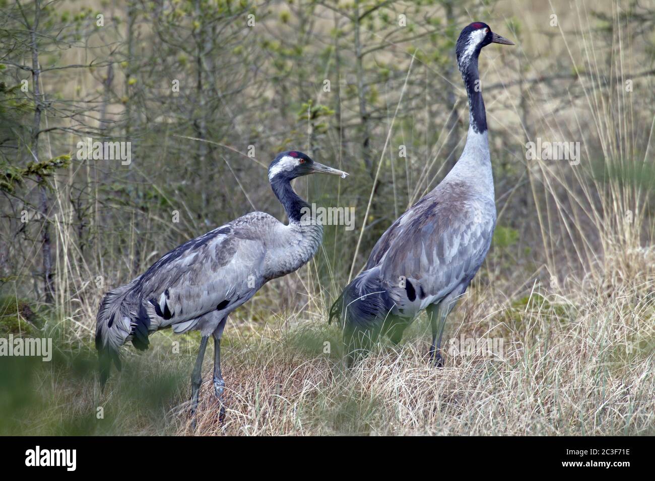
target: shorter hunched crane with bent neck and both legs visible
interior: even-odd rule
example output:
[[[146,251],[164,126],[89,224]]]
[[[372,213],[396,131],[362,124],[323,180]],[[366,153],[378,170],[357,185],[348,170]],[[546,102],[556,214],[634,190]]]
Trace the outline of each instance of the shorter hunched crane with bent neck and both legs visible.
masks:
[[[227,316],[265,283],[301,268],[316,253],[323,226],[308,217],[309,204],[291,188],[291,180],[315,172],[348,175],[303,152],[278,154],[269,166],[269,183],[284,206],[288,225],[267,213],[251,212],[183,243],[129,284],[107,293],[96,320],[102,385],[111,361],[120,370],[119,347],[125,342],[131,340],[145,350],[155,330],[172,327],[178,334],[200,330],[200,351],[191,376],[191,416],[198,406],[202,359],[211,335],[214,393],[222,420],[221,335]]]

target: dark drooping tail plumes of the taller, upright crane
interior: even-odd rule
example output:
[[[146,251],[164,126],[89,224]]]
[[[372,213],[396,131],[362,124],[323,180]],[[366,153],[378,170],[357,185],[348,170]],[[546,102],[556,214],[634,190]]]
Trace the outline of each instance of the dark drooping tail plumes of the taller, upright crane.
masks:
[[[379,277],[379,268],[362,272],[332,304],[329,321],[339,318],[348,367],[370,350],[383,329],[393,302]]]

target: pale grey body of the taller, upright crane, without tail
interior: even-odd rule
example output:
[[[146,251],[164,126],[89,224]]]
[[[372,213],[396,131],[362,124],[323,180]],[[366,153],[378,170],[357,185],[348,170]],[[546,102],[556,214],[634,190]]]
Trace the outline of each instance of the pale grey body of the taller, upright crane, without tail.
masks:
[[[491,164],[484,156],[462,159],[474,164],[479,175],[470,179],[453,169],[371,251],[365,270],[379,269],[395,315],[413,318],[453,291],[466,289],[489,251],[496,221]]]

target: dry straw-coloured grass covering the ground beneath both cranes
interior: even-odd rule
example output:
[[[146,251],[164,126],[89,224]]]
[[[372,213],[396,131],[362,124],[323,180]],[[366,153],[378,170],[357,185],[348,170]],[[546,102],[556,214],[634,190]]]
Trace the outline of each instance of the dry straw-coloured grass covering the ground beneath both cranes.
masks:
[[[273,323],[261,336],[234,329],[223,346],[225,423],[217,422],[208,355],[195,433],[186,399],[197,339],[174,355],[172,336],[153,336],[153,351],[129,358],[104,395],[92,357],[55,359],[52,370],[40,363],[29,387],[38,402],[21,416],[20,432],[652,435],[655,298],[645,281],[652,283],[654,264],[646,254],[641,261],[651,277],[611,292],[565,298],[535,288],[533,301],[517,306],[474,290],[451,317],[447,338],[500,336],[504,359],[448,355],[444,368],[429,366],[422,318],[400,346],[379,346],[351,372],[341,364],[339,333],[319,317],[290,315],[296,320]],[[104,406],[104,419],[94,418],[96,406]]]

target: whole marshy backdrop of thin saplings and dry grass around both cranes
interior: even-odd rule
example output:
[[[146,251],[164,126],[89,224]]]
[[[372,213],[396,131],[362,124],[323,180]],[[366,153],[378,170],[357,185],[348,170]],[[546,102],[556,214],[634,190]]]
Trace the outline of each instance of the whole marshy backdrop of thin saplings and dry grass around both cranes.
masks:
[[[516,46],[480,57],[498,224],[447,335],[501,336],[531,359],[514,372],[535,377],[527,397],[521,380],[494,382],[484,405],[504,414],[465,427],[479,389],[414,386],[424,398],[398,409],[405,401],[366,374],[346,389],[332,373],[339,349],[326,355],[323,342],[339,344],[329,303],[461,153],[454,46],[473,21]],[[283,220],[265,168],[290,149],[351,174],[294,185],[310,203],[354,207],[355,228],[326,226],[307,266],[229,319],[225,379],[243,414],[231,433],[653,432],[653,1],[0,0],[0,37],[0,335],[54,336],[58,351],[52,363],[0,358],[11,362],[6,433],[186,433],[191,363],[170,351],[177,341],[191,355],[196,338],[153,336],[112,404],[94,376],[99,302],[244,213]],[[130,164],[79,158],[88,137],[130,142]],[[579,143],[578,163],[528,158],[531,141]],[[370,361],[397,366],[396,387],[424,364],[417,329],[402,347],[414,364],[384,349]],[[565,365],[549,367],[555,358]],[[479,368],[469,359],[452,376],[473,386]],[[312,376],[320,395],[305,393]],[[132,392],[143,380],[152,389]],[[510,391],[512,407],[499,407]],[[620,407],[599,419],[608,393]],[[135,396],[145,412],[130,408]],[[105,403],[111,420],[98,423]],[[207,416],[201,433],[225,429]]]

